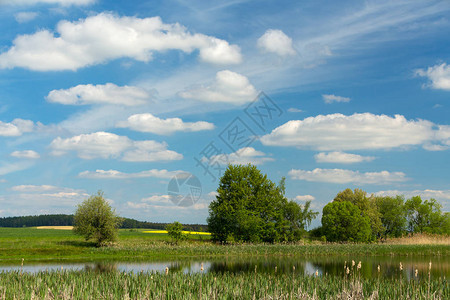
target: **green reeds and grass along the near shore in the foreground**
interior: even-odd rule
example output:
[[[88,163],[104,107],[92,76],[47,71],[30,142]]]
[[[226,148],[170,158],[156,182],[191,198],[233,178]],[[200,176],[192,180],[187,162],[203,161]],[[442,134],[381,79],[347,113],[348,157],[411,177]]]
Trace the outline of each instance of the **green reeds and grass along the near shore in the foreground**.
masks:
[[[362,279],[253,273],[0,274],[0,299],[448,299],[444,278]],[[372,297],[372,298],[371,298]]]

